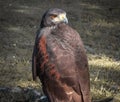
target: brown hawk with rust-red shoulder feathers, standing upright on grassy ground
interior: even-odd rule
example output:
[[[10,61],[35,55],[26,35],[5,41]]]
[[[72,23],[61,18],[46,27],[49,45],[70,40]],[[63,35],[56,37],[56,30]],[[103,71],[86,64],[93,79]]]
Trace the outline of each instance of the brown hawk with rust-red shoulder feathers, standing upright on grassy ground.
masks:
[[[91,102],[86,50],[63,9],[51,8],[42,16],[32,75],[33,80],[40,79],[48,102]]]

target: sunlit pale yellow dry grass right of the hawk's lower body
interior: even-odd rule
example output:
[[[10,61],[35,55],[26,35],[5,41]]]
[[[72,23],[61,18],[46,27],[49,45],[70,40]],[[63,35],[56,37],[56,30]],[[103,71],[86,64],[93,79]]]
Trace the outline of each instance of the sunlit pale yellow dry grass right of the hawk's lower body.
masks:
[[[94,99],[114,97],[115,102],[120,98],[120,62],[116,62],[106,56],[92,57],[89,60],[91,75],[91,93]]]

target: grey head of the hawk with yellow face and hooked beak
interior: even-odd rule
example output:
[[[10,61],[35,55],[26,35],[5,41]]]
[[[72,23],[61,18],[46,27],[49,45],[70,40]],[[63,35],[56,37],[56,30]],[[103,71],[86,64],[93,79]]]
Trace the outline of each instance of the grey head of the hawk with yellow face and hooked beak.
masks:
[[[68,23],[66,12],[62,9],[49,9],[42,17],[41,28],[55,26],[59,23]]]

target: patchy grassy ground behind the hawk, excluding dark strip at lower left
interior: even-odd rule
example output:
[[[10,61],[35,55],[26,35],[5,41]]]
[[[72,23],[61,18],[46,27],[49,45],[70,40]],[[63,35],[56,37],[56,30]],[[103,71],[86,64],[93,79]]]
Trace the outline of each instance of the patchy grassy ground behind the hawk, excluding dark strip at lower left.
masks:
[[[40,89],[32,50],[43,13],[54,7],[67,12],[84,41],[92,98],[120,102],[120,0],[0,0],[0,87]]]

